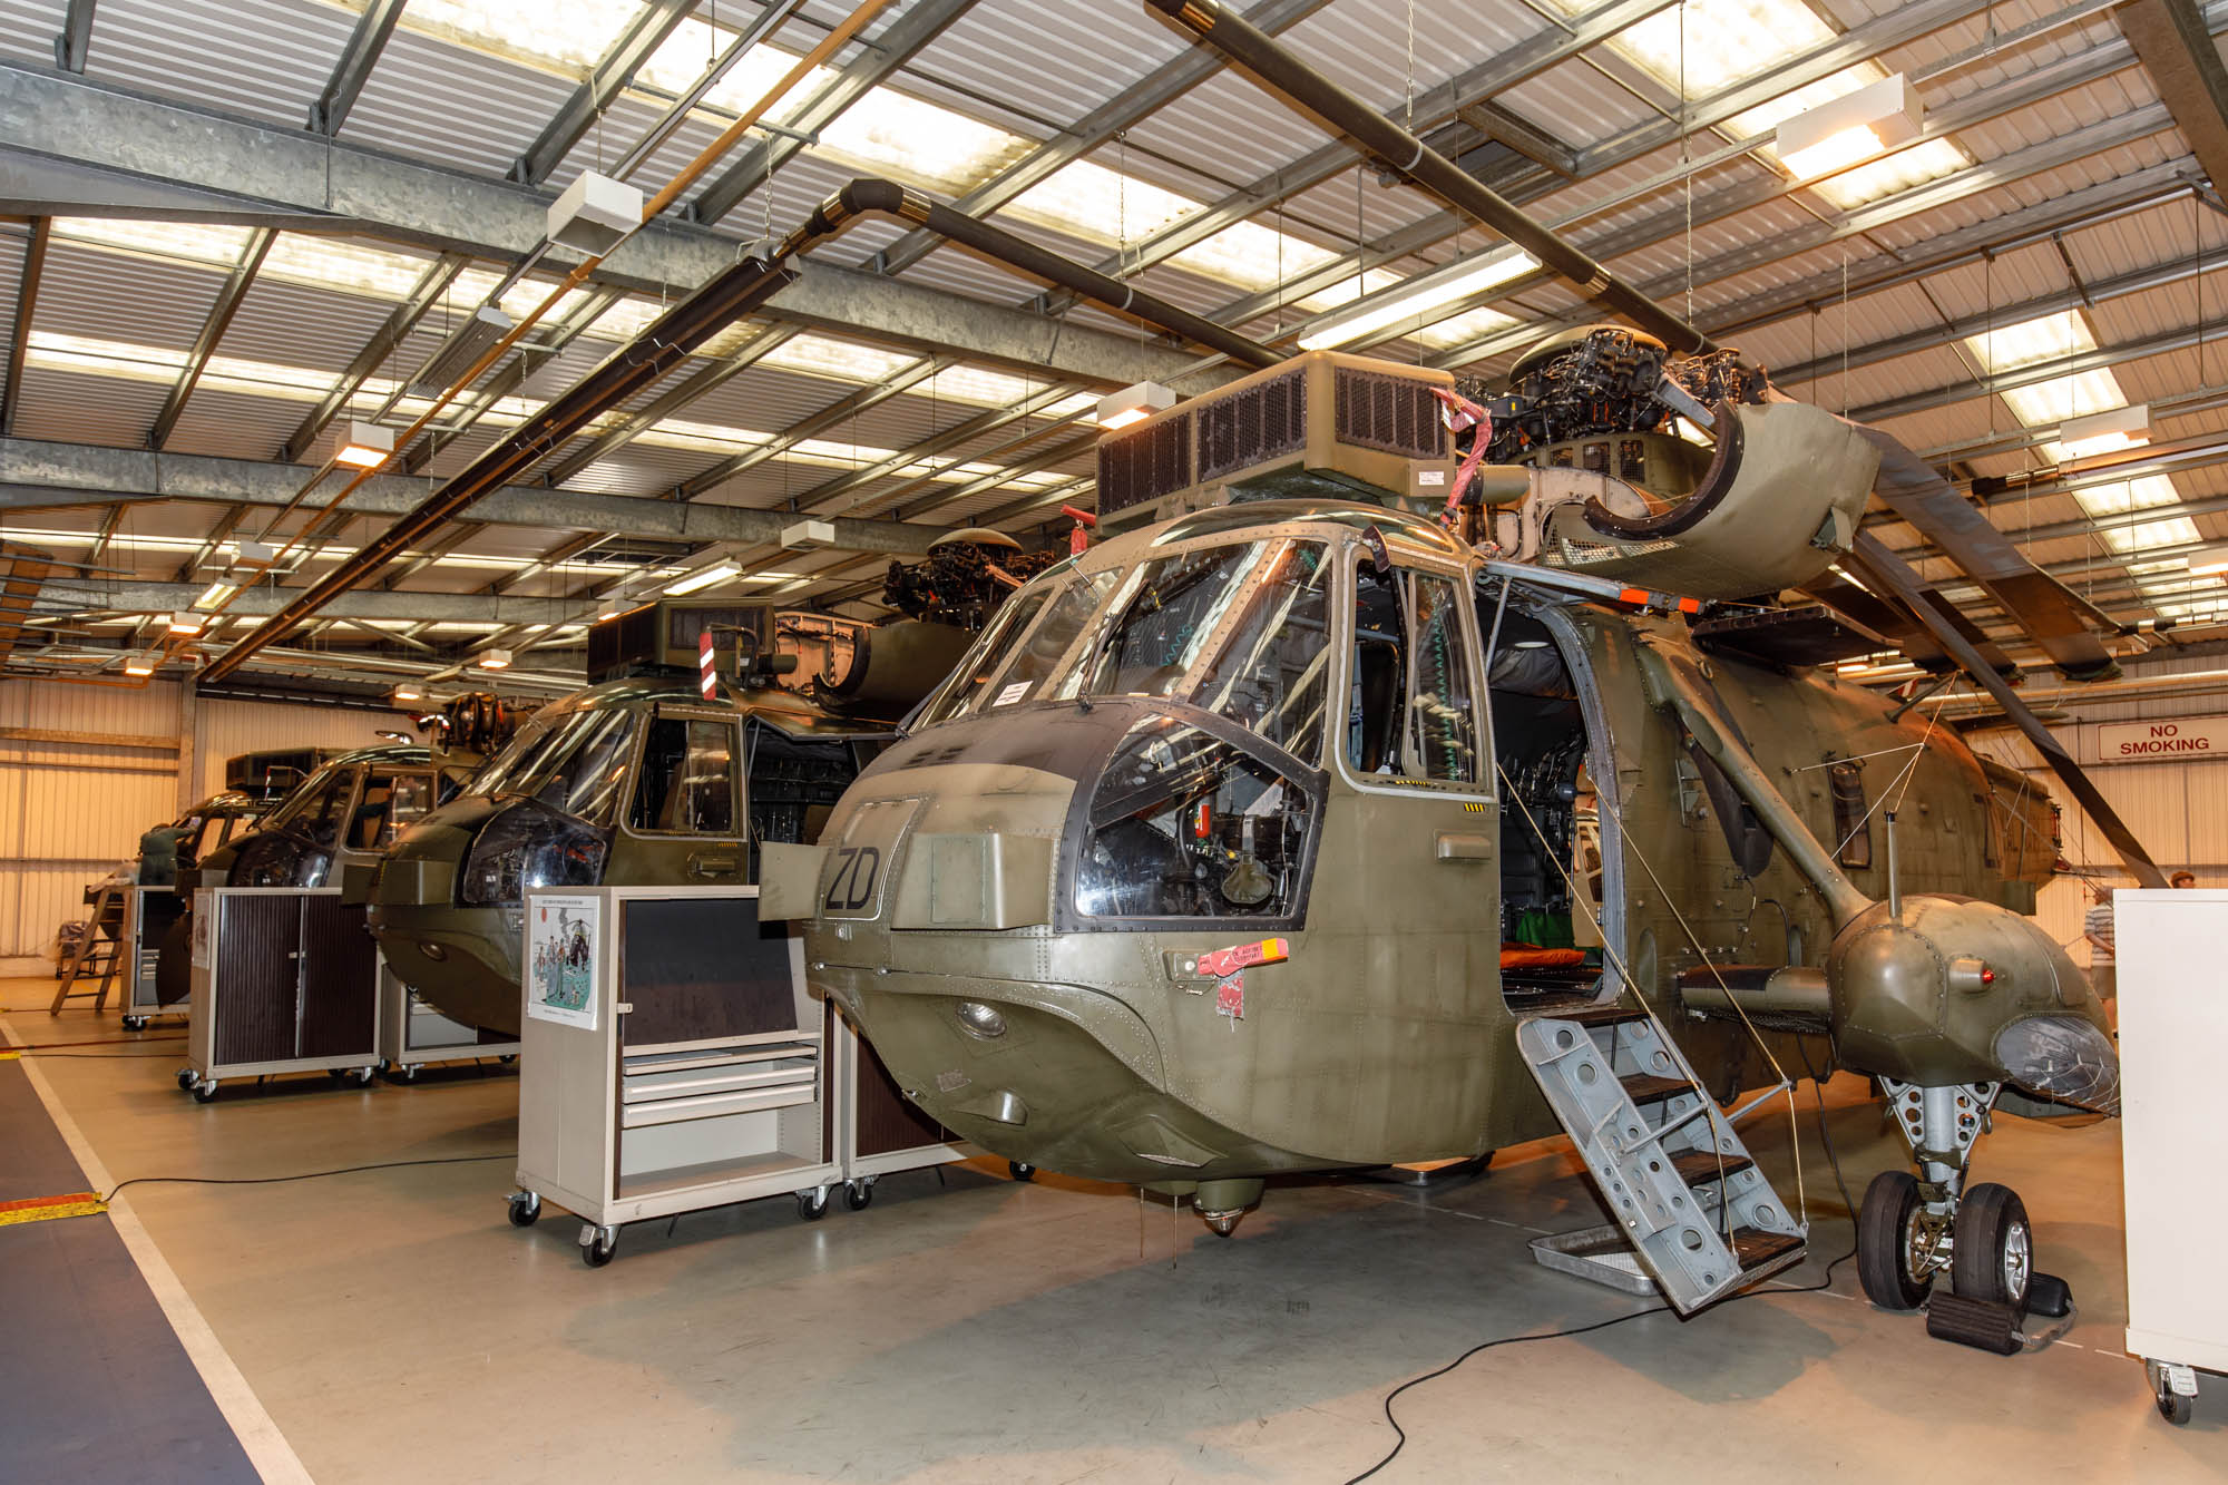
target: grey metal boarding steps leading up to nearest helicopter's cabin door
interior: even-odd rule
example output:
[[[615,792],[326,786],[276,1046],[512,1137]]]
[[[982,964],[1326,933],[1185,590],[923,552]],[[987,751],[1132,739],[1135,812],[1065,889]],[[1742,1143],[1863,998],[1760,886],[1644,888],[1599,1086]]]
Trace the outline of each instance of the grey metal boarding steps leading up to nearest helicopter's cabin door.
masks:
[[[1756,1168],[1653,1015],[1580,1006],[1517,1021],[1517,1050],[1615,1222],[1533,1244],[1540,1262],[1678,1313],[1802,1262],[1805,1224]]]

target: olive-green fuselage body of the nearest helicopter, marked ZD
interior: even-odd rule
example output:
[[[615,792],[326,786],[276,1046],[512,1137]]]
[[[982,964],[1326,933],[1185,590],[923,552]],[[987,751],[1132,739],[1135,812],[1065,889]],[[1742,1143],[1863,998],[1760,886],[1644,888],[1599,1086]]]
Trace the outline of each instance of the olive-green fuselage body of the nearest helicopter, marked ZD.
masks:
[[[1201,598],[1216,562],[1245,571]],[[1923,711],[1646,611],[1495,611],[1482,573],[1428,522],[1286,502],[1047,575],[822,845],[769,861],[813,986],[945,1126],[1074,1175],[1185,1188],[1546,1135],[1517,1017],[1626,986],[1675,1010],[1682,972],[1823,965],[1836,936],[1646,647],[1700,669],[1867,896],[1892,794],[1905,894],[2032,910],[2048,800],[1999,796],[2023,780]],[[1740,1026],[1667,1019],[1720,1093],[1749,1079]]]

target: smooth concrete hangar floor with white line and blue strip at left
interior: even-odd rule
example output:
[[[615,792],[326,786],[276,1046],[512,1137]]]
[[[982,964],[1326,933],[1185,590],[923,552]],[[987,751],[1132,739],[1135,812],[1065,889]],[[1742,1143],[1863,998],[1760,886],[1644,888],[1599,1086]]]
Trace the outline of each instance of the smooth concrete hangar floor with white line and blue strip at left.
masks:
[[[1533,1235],[1597,1220],[1562,1142],[1428,1193],[1272,1186],[1234,1240],[978,1162],[813,1224],[789,1200],[642,1224],[588,1269],[577,1224],[504,1217],[508,1068],[198,1106],[174,1032],[49,1019],[49,994],[0,981],[11,1046],[129,1044],[0,1061],[0,1204],[495,1159],[143,1182],[107,1215],[0,1224],[7,1481],[1343,1481],[1397,1443],[1408,1378],[1649,1309],[1533,1264]],[[1854,1079],[1827,1122],[1851,1191],[1898,1159]],[[2005,1119],[1987,1144],[2079,1304],[2041,1351],[1927,1340],[1854,1264],[1802,1293],[1849,1249],[1807,1128],[1802,1269],[1687,1322],[1477,1353],[1401,1394],[1377,1478],[2219,1481],[2228,1394],[2170,1429],[2121,1353],[2117,1139]],[[1785,1142],[1758,1124],[1767,1162]]]

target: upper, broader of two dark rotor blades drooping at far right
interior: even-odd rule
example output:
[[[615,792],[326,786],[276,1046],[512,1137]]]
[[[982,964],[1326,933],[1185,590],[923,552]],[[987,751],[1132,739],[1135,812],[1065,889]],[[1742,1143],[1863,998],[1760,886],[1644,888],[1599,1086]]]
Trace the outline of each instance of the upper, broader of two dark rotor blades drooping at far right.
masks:
[[[1892,433],[1865,424],[1851,428],[1880,450],[1874,495],[1978,582],[2065,680],[2110,680],[2119,673],[2112,651],[2097,638],[2117,629],[2105,613],[2027,562],[1978,506]]]

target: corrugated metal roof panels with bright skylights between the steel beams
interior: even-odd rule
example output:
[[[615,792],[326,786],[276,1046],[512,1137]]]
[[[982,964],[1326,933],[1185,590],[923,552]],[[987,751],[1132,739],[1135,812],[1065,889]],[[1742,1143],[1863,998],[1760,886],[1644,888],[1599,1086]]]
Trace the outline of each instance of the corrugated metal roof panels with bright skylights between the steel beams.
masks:
[[[811,20],[784,31],[782,42],[798,47],[811,27],[833,25],[844,13],[840,0],[815,0]],[[1408,13],[1415,9],[1415,56],[1408,51]],[[1825,13],[1838,25],[1863,25],[1894,7],[1885,0],[1829,0]],[[1905,42],[1880,58],[1887,69],[1912,69],[1925,78],[1923,91],[1936,109],[1952,100],[1987,98],[1990,89],[2076,58],[2088,49],[2119,45],[2119,31],[2108,13],[2059,27],[2019,45],[1990,47],[1992,36],[2010,33],[2050,13],[2043,0],[2005,0],[1927,36]],[[225,114],[238,114],[278,127],[299,127],[310,98],[323,87],[332,60],[348,38],[352,11],[312,0],[102,0],[96,13],[89,80],[125,85],[156,96],[187,100]],[[891,25],[882,20],[878,25]],[[49,65],[51,36],[60,27],[58,0],[13,0],[0,7],[0,49]],[[1290,45],[1332,74],[1335,80],[1379,107],[1397,107],[1413,89],[1457,76],[1506,51],[1522,38],[1542,33],[1548,22],[1535,9],[1508,7],[1495,0],[1448,0],[1433,7],[1406,7],[1399,0],[1332,0],[1319,13],[1292,27]],[[851,49],[856,56],[858,49]],[[1185,45],[1150,18],[1143,7],[1045,7],[1032,0],[978,0],[938,36],[896,78],[893,87],[911,91],[965,116],[994,123],[1023,138],[1047,138],[1061,127],[1116,98],[1136,78],[1147,76]],[[1602,67],[1593,62],[1600,60]],[[1947,62],[1956,62],[1947,67]],[[1535,127],[1569,147],[1586,147],[1633,125],[1658,120],[1633,89],[1606,74],[1633,76],[1613,58],[1571,60],[1517,89],[1506,89],[1495,103],[1533,120]],[[1660,91],[1640,82],[1642,91]],[[499,176],[510,158],[526,147],[573,89],[573,78],[477,54],[452,40],[428,38],[408,25],[397,31],[372,71],[343,138],[374,145],[401,156],[432,161],[448,169]],[[2132,65],[2081,87],[2068,87],[2043,103],[2007,111],[1999,118],[1958,132],[1958,145],[1970,158],[1987,165],[2016,158],[2021,152],[2068,138],[2079,129],[2126,118],[2154,103],[2148,76]],[[555,172],[553,187],[586,167],[617,158],[644,127],[657,118],[655,100],[626,94],[617,98],[570,158]],[[642,169],[637,183],[655,187],[691,158],[717,129],[709,116],[691,118],[673,140]],[[1125,143],[1101,145],[1089,158],[1098,167],[1125,169],[1141,183],[1181,192],[1201,203],[1219,201],[1232,185],[1272,176],[1274,167],[1319,147],[1323,136],[1315,125],[1283,105],[1266,98],[1245,80],[1219,71],[1176,103],[1143,118]],[[1698,138],[1696,154],[1713,149],[1716,138]],[[1638,223],[1651,223],[1655,241],[1626,245],[1613,268],[1644,283],[1662,285],[1684,305],[1689,263],[1702,265],[1738,254],[1747,268],[1722,281],[1704,281],[1693,290],[1700,317],[1738,317],[1742,305],[1787,285],[1831,285],[1849,270],[1858,281],[1896,259],[1923,259],[1947,232],[1987,223],[2034,203],[2056,201],[2094,183],[2186,158],[2186,145],[2175,129],[2159,129],[2134,143],[2090,154],[2052,169],[2019,178],[1972,174],[1963,194],[1943,201],[1929,192],[1923,212],[1896,216],[1892,210],[1867,210],[1865,234],[1851,234],[1800,252],[1780,243],[1816,234],[1820,216],[1838,219],[1811,192],[1780,194],[1756,207],[1711,221],[1711,203],[1727,192],[1747,194],[1758,183],[1776,178],[1771,165],[1758,158],[1736,158],[1707,167],[1693,178],[1702,207],[1691,243],[1680,223],[1687,190],[1678,178],[1680,147],[1658,147],[1644,158],[1626,161],[1575,183],[1542,192],[1528,187],[1531,210],[1548,219],[1573,219],[1582,243],[1626,243]],[[815,149],[789,161],[782,172],[753,190],[717,230],[740,241],[780,236],[829,192],[853,174]],[[715,169],[709,178],[717,178]],[[1669,178],[1664,178],[1669,176]],[[1357,192],[1359,183],[1359,192]],[[1653,183],[1629,201],[1613,201],[1629,190]],[[1613,205],[1602,205],[1613,201]],[[1384,187],[1368,172],[1341,172],[1330,181],[1297,194],[1283,207],[1270,207],[1254,221],[1281,227],[1297,241],[1343,254],[1359,241],[1384,241],[1439,212],[1437,203],[1406,187]],[[2192,219],[2195,212],[2195,219]],[[1112,259],[1114,245],[1040,223],[1009,219],[1005,225],[1056,252],[1083,261]],[[7,230],[0,230],[7,234]],[[824,252],[844,265],[871,263],[873,252],[902,234],[898,223],[862,223],[844,241]],[[16,234],[20,241],[20,232]],[[1419,272],[1459,252],[1475,252],[1488,234],[1470,230],[1457,239],[1421,243],[1390,268]],[[2063,234],[2063,256],[2056,243],[2034,243],[1996,254],[1990,263],[1952,265],[1925,274],[1918,283],[1863,294],[1847,308],[1825,294],[1820,312],[1789,314],[1776,323],[1736,337],[1767,366],[1794,366],[1811,359],[1831,361],[1847,346],[1874,346],[1898,334],[1923,334],[1943,321],[1990,317],[2072,283],[2065,259],[2083,283],[2159,263],[2181,263],[2199,254],[2219,254],[2228,268],[2228,223],[2208,210],[2175,203],[2134,219],[2083,227],[2070,223]],[[0,321],[7,319],[13,294],[13,265],[20,250],[0,250]],[[499,268],[499,265],[492,265]],[[907,270],[907,279],[942,292],[989,303],[1027,303],[1040,285],[1023,274],[985,263],[956,250],[938,250]],[[1219,312],[1248,294],[1234,285],[1203,276],[1183,263],[1161,263],[1134,274],[1139,288],[1161,294],[1194,312]],[[218,270],[154,263],[118,252],[100,252],[76,243],[56,243],[47,279],[33,314],[33,328],[49,337],[76,341],[111,341],[176,357],[201,330],[223,274]],[[686,285],[675,285],[686,288]],[[2088,310],[2097,339],[2105,346],[2137,343],[2175,334],[2197,321],[2221,319],[2221,297],[2228,292],[2215,274],[2203,288],[2197,281],[2103,299]],[[1526,290],[1515,308],[1533,317],[1560,317],[1575,310],[1575,297],[1562,285]],[[272,279],[258,281],[232,321],[221,357],[281,368],[301,368],[307,377],[330,377],[348,366],[361,346],[385,321],[390,301],[336,290],[301,288]],[[1292,323],[1297,310],[1263,314],[1254,332],[1268,334],[1279,323]],[[390,357],[388,375],[417,366],[441,343],[448,312],[434,312],[408,343]],[[1083,305],[1067,323],[1112,328],[1136,334],[1134,326],[1103,310]],[[1049,337],[1058,326],[1047,321]],[[528,384],[537,401],[561,390],[570,379],[610,355],[613,343],[582,337]],[[1406,355],[1408,343],[1388,350]],[[1502,357],[1506,361],[1506,355]],[[1907,392],[1950,390],[1956,401],[1896,419],[1896,433],[1916,446],[1950,444],[2014,428],[2001,399],[1972,390],[1972,363],[1954,346],[1923,348],[1874,366],[1858,366],[1840,377],[1831,363],[1809,386],[1827,406],[1865,404]],[[631,406],[644,406],[666,392],[686,370],[639,392]],[[2119,366],[2121,388],[2132,399],[2163,401],[2203,381],[2228,381],[2221,350],[2203,357],[2190,350],[2152,355]],[[165,375],[138,379],[56,370],[33,359],[25,377],[16,433],[65,441],[102,441],[136,446],[145,439],[154,410],[167,395]],[[755,366],[731,379],[711,397],[700,399],[677,417],[686,424],[749,428],[778,435],[798,419],[838,404],[853,384],[809,377],[780,366]],[[234,384],[205,386],[187,404],[172,435],[178,453],[221,453],[234,457],[267,457],[301,421],[310,406],[307,390],[290,395],[254,395]],[[864,450],[907,448],[938,426],[949,426],[978,408],[931,399],[918,392],[885,399],[876,408],[824,430],[822,448],[840,450],[858,444]],[[2172,433],[2168,433],[2172,428]],[[468,435],[452,439],[432,462],[434,475],[455,473],[501,430],[490,417]],[[2197,437],[2228,430],[2228,410],[2208,410],[2179,419],[2161,419],[2154,437]],[[954,457],[987,457],[1014,462],[1036,446],[1005,448],[1014,430],[976,439]],[[579,441],[568,444],[579,448]],[[566,453],[566,450],[559,450]],[[671,491],[680,479],[711,468],[724,455],[704,448],[673,448],[655,437],[637,439],[615,457],[582,470],[573,484],[631,495]],[[1983,459],[1987,468],[2021,468],[2032,453]],[[778,504],[824,484],[840,473],[840,453],[766,459],[746,475],[724,484],[711,497],[717,502]],[[1072,462],[1074,473],[1089,473],[1089,459]],[[856,497],[887,499],[902,479],[882,479]],[[2177,475],[2186,495],[2208,495],[2228,488],[2228,468]],[[956,484],[940,486],[945,491]],[[916,488],[907,504],[934,497],[934,488]],[[1007,504],[1014,486],[1000,486],[938,511],[934,520],[965,520],[974,511]],[[2070,520],[2079,506],[2070,497],[2025,502],[2023,517],[2059,511],[2048,520]],[[209,517],[207,506],[196,508]],[[154,520],[143,531],[172,531],[176,522]],[[76,513],[76,522],[98,520],[98,508]],[[374,522],[352,522],[352,540],[361,540]],[[2228,522],[2208,517],[2208,531]],[[185,522],[178,535],[187,535]],[[1903,537],[1898,537],[1903,540]],[[546,533],[497,528],[466,544],[463,551],[488,560],[515,560],[548,546]],[[2056,544],[2052,544],[2056,546]],[[2081,549],[2081,540],[2065,542]],[[145,555],[145,553],[143,553]],[[118,553],[123,560],[123,553]],[[140,557],[131,557],[140,562]],[[160,553],[145,555],[149,564]],[[829,557],[840,566],[836,557]],[[430,569],[412,586],[457,586],[470,591],[486,575]],[[461,584],[461,586],[459,586]],[[561,591],[557,580],[535,580],[535,589]]]

